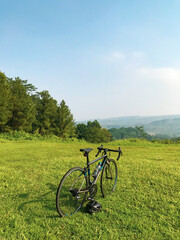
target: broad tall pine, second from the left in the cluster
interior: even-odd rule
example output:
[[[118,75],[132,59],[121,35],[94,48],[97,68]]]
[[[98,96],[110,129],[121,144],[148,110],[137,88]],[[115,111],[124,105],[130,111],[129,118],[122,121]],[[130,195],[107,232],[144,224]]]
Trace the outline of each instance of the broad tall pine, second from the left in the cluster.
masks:
[[[8,82],[11,90],[12,109],[11,118],[7,124],[12,130],[31,131],[36,109],[25,85],[27,81],[15,78],[15,80],[8,79]]]

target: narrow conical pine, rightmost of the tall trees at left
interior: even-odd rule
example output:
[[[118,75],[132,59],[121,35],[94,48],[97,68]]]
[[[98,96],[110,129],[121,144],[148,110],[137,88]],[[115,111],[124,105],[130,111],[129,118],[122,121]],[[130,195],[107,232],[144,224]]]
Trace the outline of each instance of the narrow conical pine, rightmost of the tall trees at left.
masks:
[[[73,115],[65,101],[62,100],[58,106],[57,113],[57,135],[66,138],[72,137],[75,133],[75,122]]]

